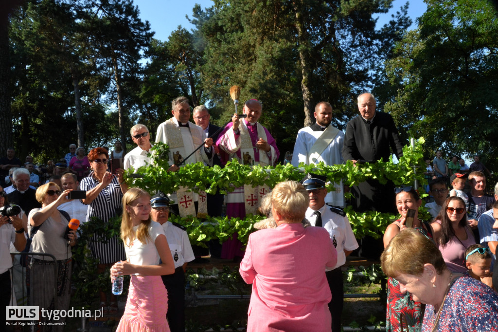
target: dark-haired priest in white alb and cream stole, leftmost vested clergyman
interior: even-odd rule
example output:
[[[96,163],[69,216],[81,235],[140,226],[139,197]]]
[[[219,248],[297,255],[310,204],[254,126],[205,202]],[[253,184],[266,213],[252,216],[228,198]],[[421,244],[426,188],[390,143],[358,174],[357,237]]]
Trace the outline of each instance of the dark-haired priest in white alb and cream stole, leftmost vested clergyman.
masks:
[[[180,164],[187,158],[197,147],[204,143],[204,147],[197,150],[190,156],[186,164],[195,164],[204,162],[207,165],[213,165],[213,139],[205,138],[204,130],[190,122],[190,104],[186,97],[178,97],[171,103],[173,117],[166,120],[157,128],[156,142],[163,142],[169,146],[169,165],[168,170],[176,171]],[[178,204],[180,216],[187,215],[207,215],[206,194],[197,194],[190,191],[189,188],[181,187],[178,191],[169,194],[169,198]],[[199,200],[200,197],[200,200]],[[195,210],[194,202],[199,201],[198,211]],[[174,205],[171,206],[173,209]],[[198,213],[197,213],[198,212]]]

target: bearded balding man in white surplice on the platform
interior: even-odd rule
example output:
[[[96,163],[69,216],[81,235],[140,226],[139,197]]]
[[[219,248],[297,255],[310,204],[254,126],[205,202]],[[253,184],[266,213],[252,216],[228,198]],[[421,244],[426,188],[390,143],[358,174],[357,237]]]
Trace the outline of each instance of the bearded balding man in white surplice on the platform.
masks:
[[[301,128],[297,133],[291,164],[299,166],[323,162],[325,165],[344,164],[342,148],[344,133],[330,125],[332,121],[332,105],[319,102],[315,106],[316,123]],[[327,193],[325,202],[333,206],[344,206],[343,183],[334,183],[335,191]]]

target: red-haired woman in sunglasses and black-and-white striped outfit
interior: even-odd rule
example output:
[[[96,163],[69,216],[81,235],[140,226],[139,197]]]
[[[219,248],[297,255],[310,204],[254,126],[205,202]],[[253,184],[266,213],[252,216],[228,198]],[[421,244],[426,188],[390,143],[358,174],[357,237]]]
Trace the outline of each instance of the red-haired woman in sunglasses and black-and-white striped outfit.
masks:
[[[121,199],[128,188],[123,180],[123,169],[119,169],[116,175],[107,170],[109,155],[104,148],[92,149],[88,159],[93,170],[80,183],[81,190],[87,191],[87,197],[82,199],[83,204],[88,204],[86,221],[96,217],[101,222],[108,222],[110,218],[120,215],[123,211]],[[93,257],[100,260],[97,266],[99,273],[105,272],[112,264],[124,260],[125,257],[123,243],[118,237],[107,241],[103,236],[96,234],[90,242],[90,249]],[[104,313],[118,312],[115,295],[111,294],[109,308],[106,293],[102,290],[100,301]]]

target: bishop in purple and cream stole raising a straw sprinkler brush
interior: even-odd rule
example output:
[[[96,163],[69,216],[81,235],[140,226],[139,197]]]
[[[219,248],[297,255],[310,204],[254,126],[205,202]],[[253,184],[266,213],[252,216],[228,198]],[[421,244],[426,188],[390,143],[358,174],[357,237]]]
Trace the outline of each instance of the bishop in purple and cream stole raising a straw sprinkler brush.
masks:
[[[271,134],[259,122],[262,105],[256,99],[250,99],[244,104],[243,113],[247,118],[232,117],[223,132],[218,137],[216,145],[220,151],[222,164],[237,159],[244,165],[275,165],[280,152]],[[259,201],[268,192],[267,186],[236,188],[227,195],[227,216],[245,218],[248,213],[256,213]],[[241,245],[242,246],[242,245]],[[222,248],[222,258],[244,256],[240,250],[226,250]]]

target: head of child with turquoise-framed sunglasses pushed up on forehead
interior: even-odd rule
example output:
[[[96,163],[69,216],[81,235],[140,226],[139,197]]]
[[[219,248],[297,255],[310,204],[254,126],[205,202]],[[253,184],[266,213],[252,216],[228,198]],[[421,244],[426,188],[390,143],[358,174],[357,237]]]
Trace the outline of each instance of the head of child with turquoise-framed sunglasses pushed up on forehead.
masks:
[[[465,266],[469,275],[493,288],[491,250],[480,244],[470,245],[465,251]]]

